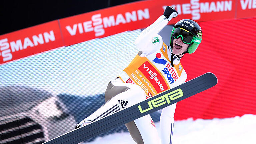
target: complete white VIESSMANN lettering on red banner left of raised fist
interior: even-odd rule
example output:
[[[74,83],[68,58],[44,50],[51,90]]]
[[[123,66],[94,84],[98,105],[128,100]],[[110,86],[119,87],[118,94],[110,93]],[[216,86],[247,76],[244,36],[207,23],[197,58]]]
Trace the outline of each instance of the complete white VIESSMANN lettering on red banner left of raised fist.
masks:
[[[137,10],[132,12],[126,12],[125,14],[111,15],[108,17],[101,17],[101,14],[92,15],[91,20],[80,22],[71,25],[67,25],[65,28],[71,36],[95,32],[95,36],[102,36],[105,34],[105,28],[118,26],[119,24],[126,24],[130,22],[135,22],[138,20],[149,19],[149,10],[148,8],[144,10]]]

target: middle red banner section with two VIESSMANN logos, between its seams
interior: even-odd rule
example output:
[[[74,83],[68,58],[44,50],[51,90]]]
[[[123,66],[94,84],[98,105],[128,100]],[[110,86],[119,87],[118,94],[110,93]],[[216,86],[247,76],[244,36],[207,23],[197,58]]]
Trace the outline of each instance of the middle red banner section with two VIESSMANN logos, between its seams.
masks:
[[[60,19],[65,44],[72,45],[145,28],[162,15],[168,5],[173,6],[179,13],[169,24],[185,18],[209,21],[235,17],[235,3],[232,0],[184,0],[182,3],[173,0],[141,1]]]

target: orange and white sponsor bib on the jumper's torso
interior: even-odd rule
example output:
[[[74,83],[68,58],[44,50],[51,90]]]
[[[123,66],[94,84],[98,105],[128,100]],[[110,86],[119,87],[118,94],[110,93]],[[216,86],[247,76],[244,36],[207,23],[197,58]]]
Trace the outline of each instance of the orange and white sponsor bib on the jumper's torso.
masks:
[[[119,78],[123,82],[139,85],[145,91],[146,98],[175,87],[183,68],[180,63],[171,66],[167,51],[168,47],[163,43],[163,47],[152,54],[137,54]]]

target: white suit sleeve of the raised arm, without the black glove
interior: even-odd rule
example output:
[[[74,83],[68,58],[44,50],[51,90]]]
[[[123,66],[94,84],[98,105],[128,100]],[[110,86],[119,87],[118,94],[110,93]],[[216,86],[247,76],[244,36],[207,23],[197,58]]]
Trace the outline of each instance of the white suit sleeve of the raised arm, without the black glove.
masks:
[[[157,33],[160,32],[167,24],[168,19],[161,15],[153,24],[144,29],[135,40],[136,47],[143,53],[149,54],[152,51],[162,47],[162,37]],[[154,38],[159,39],[159,43],[154,43]]]

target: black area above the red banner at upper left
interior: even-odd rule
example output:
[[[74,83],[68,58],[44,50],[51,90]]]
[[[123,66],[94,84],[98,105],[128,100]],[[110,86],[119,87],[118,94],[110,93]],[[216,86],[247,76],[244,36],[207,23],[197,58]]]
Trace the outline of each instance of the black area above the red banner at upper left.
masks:
[[[45,0],[0,3],[0,35],[52,20],[139,0]]]

